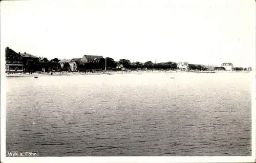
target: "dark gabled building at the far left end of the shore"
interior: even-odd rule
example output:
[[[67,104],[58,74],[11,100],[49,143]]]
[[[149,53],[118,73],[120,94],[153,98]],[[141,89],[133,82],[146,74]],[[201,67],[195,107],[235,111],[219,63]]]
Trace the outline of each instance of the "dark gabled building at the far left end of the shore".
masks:
[[[9,47],[5,49],[6,72],[23,72],[23,57],[20,53],[14,52]]]

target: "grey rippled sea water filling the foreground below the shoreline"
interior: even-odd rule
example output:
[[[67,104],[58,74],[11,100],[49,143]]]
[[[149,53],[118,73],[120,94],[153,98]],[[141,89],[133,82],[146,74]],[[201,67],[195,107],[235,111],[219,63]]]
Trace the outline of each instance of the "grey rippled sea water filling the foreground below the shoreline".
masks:
[[[6,150],[251,155],[249,73],[172,77],[171,83],[164,74],[8,78]]]

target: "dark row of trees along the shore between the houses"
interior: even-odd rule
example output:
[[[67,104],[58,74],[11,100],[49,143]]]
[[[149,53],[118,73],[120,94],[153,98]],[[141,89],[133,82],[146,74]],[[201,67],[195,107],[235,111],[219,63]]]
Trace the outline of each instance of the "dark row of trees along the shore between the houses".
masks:
[[[88,71],[93,69],[105,69],[105,59],[106,59],[106,69],[178,69],[178,65],[176,62],[162,62],[162,63],[153,63],[152,61],[146,61],[144,63],[142,62],[131,62],[128,59],[120,59],[119,61],[115,61],[113,58],[106,57],[101,58],[99,62],[90,62],[90,63],[82,63],[80,60],[75,60],[77,65],[77,71]],[[27,67],[30,72],[34,71],[69,71],[70,64],[65,63],[62,67],[60,66],[59,59],[54,58],[51,60],[48,60],[46,57],[39,57],[39,62],[30,61],[25,64],[25,67]],[[200,65],[200,64],[188,64],[189,69],[192,70],[207,70],[206,67]],[[225,70],[224,67],[214,67],[215,70]],[[251,70],[251,67],[249,68],[243,68],[243,67],[234,67],[234,71],[243,71],[243,70]]]

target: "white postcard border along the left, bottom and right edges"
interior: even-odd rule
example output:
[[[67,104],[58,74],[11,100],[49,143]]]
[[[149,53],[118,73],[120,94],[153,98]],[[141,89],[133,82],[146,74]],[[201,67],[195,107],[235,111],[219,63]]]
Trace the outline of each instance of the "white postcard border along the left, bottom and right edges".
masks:
[[[255,1],[254,1],[255,2]],[[255,11],[255,10],[254,10]],[[248,27],[249,28],[249,27]],[[255,28],[253,35],[255,38]],[[1,31],[1,30],[0,30]],[[2,31],[1,31],[2,33]],[[256,38],[255,38],[256,39]],[[251,74],[251,156],[84,156],[84,157],[6,157],[6,75],[5,47],[1,35],[1,162],[256,162],[256,41],[251,42],[254,48]]]

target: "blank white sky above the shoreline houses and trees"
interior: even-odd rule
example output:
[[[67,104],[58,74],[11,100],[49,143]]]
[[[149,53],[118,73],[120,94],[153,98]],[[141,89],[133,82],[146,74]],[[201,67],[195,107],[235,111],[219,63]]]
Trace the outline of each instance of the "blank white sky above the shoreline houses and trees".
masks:
[[[249,67],[255,1],[1,1],[5,47],[48,59],[86,54]],[[2,60],[2,59],[1,59]]]

